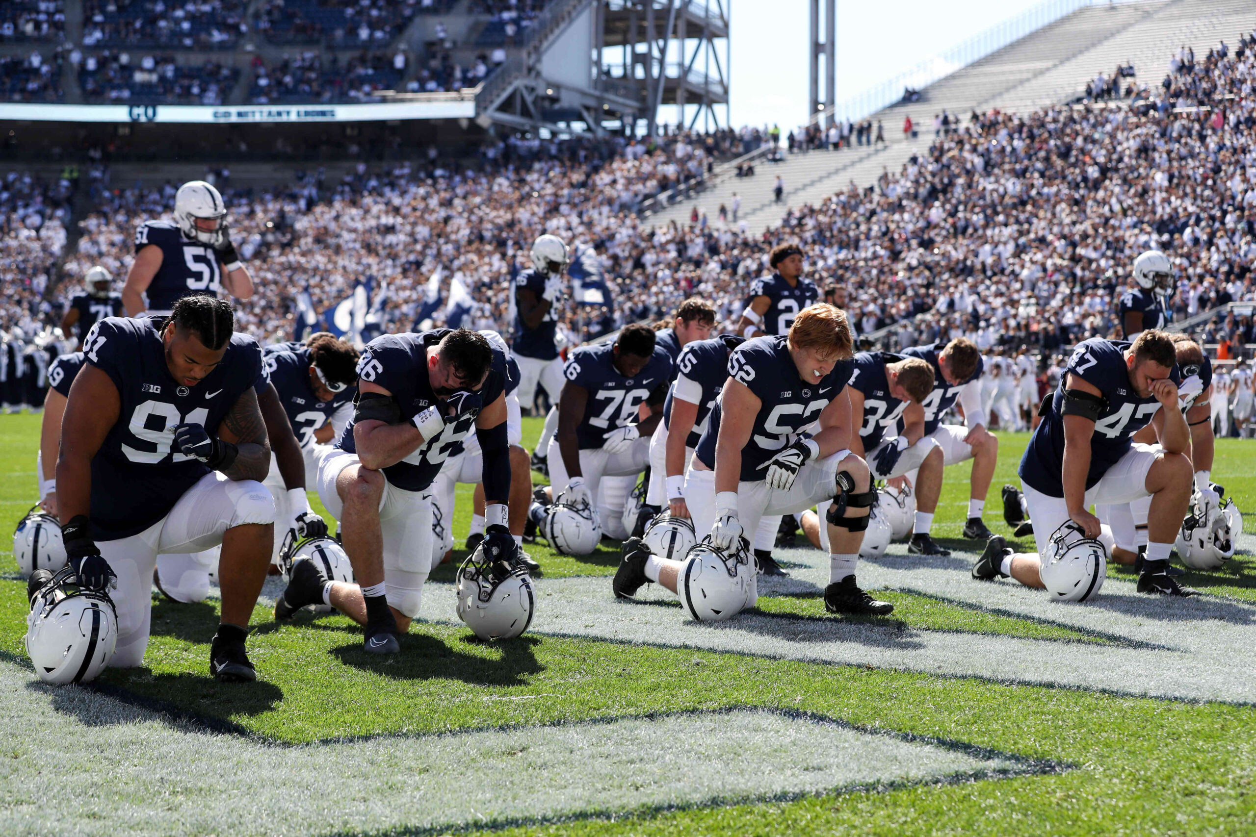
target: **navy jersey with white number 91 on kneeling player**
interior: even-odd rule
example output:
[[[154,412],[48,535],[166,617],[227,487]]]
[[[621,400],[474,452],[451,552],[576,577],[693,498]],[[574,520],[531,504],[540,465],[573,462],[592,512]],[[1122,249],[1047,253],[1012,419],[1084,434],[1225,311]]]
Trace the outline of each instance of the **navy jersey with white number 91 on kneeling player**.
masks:
[[[83,341],[87,361],[113,379],[118,422],[92,459],[92,535],[129,537],[163,518],[208,466],[172,449],[177,424],[211,434],[257,380],[261,346],[231,335],[221,363],[195,387],[171,376],[158,321],[107,317]]]

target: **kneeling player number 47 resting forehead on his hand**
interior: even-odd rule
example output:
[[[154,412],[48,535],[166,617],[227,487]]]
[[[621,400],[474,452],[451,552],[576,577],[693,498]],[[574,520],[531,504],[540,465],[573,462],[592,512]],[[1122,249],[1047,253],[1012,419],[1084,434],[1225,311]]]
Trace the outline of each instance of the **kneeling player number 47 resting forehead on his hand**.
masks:
[[[1178,409],[1177,353],[1163,331],[1144,330],[1134,343],[1091,338],[1078,344],[1042,423],[1021,458],[1025,504],[1036,555],[1014,555],[1001,536],[986,545],[972,577],[1012,577],[1042,587],[1040,570],[1051,535],[1071,520],[1099,537],[1091,503],[1150,497],[1147,560],[1138,591],[1191,596],[1168,573],[1169,553],[1191,499],[1191,429]],[[1161,408],[1164,409],[1161,409]],[[1148,422],[1159,445],[1132,442]]]

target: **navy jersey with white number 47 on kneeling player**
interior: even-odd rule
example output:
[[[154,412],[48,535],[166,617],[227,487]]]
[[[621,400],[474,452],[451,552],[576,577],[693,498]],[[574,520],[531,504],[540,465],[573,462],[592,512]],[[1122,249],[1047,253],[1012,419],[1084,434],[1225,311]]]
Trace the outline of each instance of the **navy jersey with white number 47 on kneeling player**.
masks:
[[[1094,487],[1104,473],[1130,448],[1129,437],[1144,428],[1161,403],[1148,395],[1139,398],[1129,380],[1125,365],[1125,340],[1091,338],[1078,344],[1069,358],[1065,373],[1094,385],[1105,399],[1094,435],[1090,437],[1090,471],[1086,488]],[[1060,375],[1060,385],[1051,397],[1049,409],[1042,413],[1025,456],[1021,457],[1020,477],[1025,484],[1050,497],[1064,497],[1064,419],[1060,408],[1068,374]],[[1177,366],[1171,374],[1173,383],[1181,383]]]

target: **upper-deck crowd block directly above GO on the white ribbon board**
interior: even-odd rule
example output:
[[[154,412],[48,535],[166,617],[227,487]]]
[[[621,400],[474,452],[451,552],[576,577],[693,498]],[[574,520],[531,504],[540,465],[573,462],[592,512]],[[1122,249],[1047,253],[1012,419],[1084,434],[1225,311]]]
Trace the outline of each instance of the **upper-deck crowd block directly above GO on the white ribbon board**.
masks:
[[[177,64],[172,54],[106,50],[83,58],[78,79],[92,103],[222,104],[240,70],[214,60]]]

